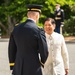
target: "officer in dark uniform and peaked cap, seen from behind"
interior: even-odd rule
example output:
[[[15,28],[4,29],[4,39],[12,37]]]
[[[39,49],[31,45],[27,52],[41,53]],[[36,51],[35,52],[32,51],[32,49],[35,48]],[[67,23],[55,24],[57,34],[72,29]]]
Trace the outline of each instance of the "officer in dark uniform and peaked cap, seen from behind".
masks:
[[[27,5],[28,19],[15,26],[10,36],[8,56],[13,75],[42,75],[41,66],[48,57],[47,43],[39,20],[41,5]],[[40,54],[40,58],[39,58]]]

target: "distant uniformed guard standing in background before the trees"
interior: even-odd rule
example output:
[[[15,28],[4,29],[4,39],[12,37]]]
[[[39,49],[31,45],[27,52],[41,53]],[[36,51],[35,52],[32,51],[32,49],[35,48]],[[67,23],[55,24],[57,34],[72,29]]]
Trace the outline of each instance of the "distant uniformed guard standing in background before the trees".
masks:
[[[56,4],[54,19],[56,22],[55,32],[60,33],[60,27],[64,25],[64,10],[60,9],[60,4]]]

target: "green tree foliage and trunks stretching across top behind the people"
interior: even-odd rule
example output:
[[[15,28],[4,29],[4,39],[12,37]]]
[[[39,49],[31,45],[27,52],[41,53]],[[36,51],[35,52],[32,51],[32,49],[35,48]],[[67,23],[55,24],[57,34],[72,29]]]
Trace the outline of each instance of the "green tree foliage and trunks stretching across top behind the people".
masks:
[[[0,28],[2,29],[3,35],[10,35],[16,24],[24,22],[27,19],[27,4],[43,5],[38,24],[43,27],[44,18],[53,17],[56,3],[60,3],[61,8],[64,9],[64,27],[66,27],[68,26],[68,21],[72,19],[72,16],[75,16],[75,0],[0,0]],[[68,33],[66,28],[64,28],[65,32]]]

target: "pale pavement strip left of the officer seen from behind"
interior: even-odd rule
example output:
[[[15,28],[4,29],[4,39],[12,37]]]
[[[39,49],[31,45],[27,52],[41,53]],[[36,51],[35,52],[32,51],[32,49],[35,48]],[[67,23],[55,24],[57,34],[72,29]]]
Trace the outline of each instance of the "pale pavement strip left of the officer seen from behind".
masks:
[[[8,62],[8,42],[0,42],[0,75],[11,75]]]

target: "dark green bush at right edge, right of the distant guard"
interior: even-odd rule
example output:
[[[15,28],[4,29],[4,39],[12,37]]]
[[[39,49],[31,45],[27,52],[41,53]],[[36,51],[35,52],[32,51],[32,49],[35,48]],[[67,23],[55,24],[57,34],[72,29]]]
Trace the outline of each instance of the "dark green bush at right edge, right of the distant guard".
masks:
[[[65,36],[75,36],[75,16],[65,21],[64,31]]]

